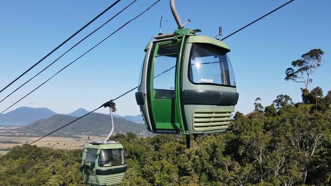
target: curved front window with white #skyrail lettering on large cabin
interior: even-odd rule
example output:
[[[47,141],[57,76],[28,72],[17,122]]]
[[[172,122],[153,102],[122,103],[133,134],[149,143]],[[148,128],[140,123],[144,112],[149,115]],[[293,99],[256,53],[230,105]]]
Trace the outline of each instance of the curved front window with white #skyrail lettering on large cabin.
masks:
[[[194,44],[188,65],[188,76],[192,83],[236,86],[229,57],[218,47]]]

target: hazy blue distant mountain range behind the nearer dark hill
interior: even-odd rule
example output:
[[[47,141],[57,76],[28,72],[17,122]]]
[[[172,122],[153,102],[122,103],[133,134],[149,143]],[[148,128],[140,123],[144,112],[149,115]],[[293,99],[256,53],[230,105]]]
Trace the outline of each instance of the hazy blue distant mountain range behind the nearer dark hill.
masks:
[[[82,115],[87,114],[89,111],[79,108],[69,114],[62,114],[68,115],[73,117],[80,117]],[[48,108],[31,108],[31,107],[19,107],[13,111],[10,111],[6,114],[0,114],[0,125],[27,125],[31,122],[38,121],[40,119],[45,119],[58,113],[48,109]],[[143,123],[143,117],[139,114],[136,116],[120,116],[114,114],[117,118],[124,118],[133,122]]]

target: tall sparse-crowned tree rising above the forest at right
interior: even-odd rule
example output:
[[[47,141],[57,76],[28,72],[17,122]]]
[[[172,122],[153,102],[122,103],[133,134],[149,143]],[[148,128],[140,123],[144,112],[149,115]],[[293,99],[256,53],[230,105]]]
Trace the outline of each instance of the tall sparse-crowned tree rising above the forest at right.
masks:
[[[313,49],[302,55],[301,59],[292,61],[293,68],[286,69],[285,80],[305,83],[306,89],[309,89],[309,83],[313,81],[311,75],[321,66],[323,54],[321,49]]]

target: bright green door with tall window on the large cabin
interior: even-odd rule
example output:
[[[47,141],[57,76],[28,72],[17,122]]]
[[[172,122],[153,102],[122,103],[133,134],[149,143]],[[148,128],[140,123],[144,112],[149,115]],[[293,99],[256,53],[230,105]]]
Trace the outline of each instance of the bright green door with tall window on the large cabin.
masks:
[[[176,106],[176,72],[181,42],[164,41],[154,44],[150,73],[150,107],[154,130],[180,131]]]

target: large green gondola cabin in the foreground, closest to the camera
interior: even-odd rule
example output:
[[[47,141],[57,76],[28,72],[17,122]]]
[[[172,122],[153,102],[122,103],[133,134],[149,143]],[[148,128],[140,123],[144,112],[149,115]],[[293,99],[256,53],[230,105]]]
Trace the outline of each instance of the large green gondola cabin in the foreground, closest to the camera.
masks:
[[[181,28],[145,48],[135,94],[153,133],[225,132],[237,104],[234,73],[222,41]]]

